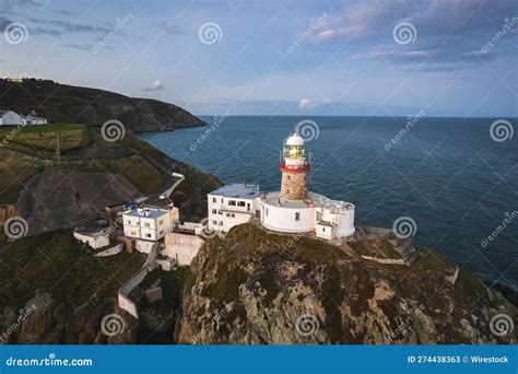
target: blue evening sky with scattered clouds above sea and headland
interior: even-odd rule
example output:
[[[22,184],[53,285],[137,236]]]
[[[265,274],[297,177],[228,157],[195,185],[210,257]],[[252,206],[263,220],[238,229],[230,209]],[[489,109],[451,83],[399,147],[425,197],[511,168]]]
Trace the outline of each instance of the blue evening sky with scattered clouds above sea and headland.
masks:
[[[0,0],[0,31],[3,78],[196,115],[517,116],[516,0]]]

